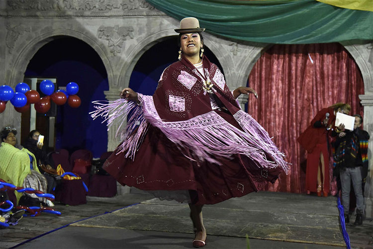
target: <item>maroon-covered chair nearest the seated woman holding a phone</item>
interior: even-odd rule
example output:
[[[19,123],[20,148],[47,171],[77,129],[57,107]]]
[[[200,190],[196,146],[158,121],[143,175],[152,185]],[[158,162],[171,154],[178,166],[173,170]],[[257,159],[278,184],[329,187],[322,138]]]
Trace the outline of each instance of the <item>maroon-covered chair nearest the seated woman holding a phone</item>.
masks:
[[[51,154],[55,168],[61,165],[65,172],[71,172],[73,167],[69,161],[69,152],[61,149]],[[87,203],[87,191],[83,186],[83,179],[67,180],[61,179],[57,184],[55,200],[68,205],[80,205]]]

